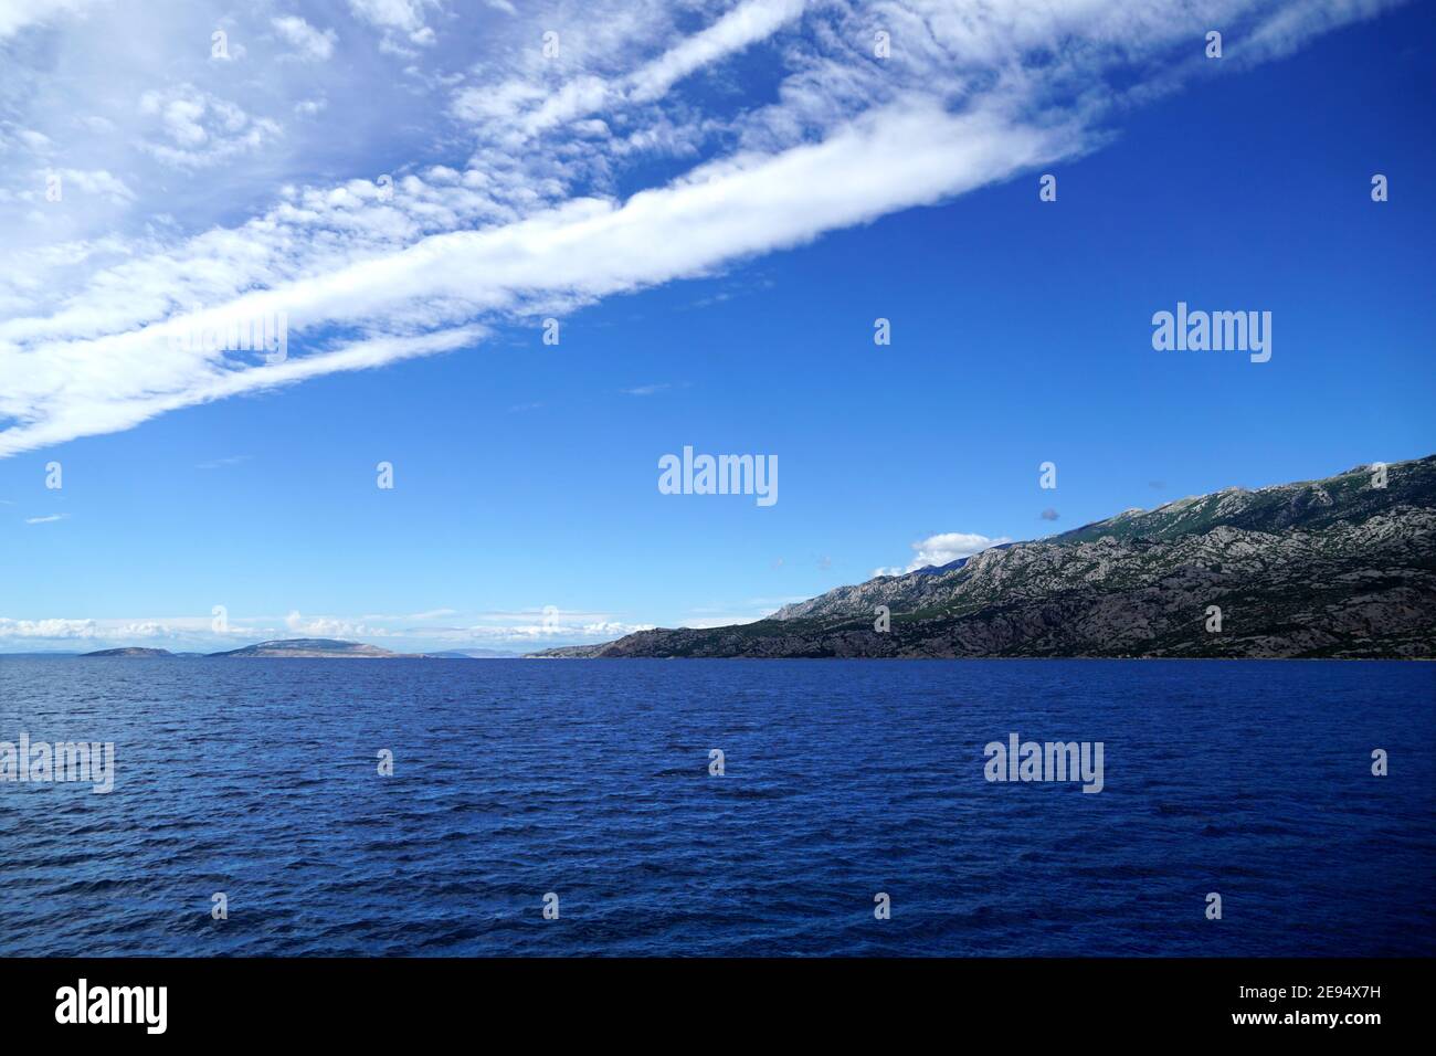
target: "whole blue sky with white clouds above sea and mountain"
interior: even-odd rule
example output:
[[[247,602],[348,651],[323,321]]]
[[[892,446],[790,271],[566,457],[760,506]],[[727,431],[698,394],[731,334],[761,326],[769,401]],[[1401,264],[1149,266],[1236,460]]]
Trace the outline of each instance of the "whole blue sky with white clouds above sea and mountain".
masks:
[[[1436,451],[1429,4],[0,0],[0,652],[715,626]]]

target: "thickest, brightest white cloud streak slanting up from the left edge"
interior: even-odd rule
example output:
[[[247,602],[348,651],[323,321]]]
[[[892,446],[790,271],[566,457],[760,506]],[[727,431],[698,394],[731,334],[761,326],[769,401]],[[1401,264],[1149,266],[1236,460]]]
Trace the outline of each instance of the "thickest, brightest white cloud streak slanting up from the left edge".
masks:
[[[168,342],[185,323],[175,319],[96,335],[98,303],[50,320],[0,323],[0,376],[16,378],[0,392],[0,415],[22,422],[0,432],[0,455],[128,428],[225,395],[472,345],[481,330],[460,325],[464,319],[523,310],[533,299],[583,303],[698,274],[969,190],[1073,148],[1068,129],[1030,129],[999,114],[893,109],[821,144],[711,165],[623,204],[580,198],[507,226],[429,236],[385,256],[233,296],[223,309],[195,316],[218,325],[286,312],[292,346],[296,329],[411,330],[366,336],[277,366],[234,369],[223,352],[177,351]],[[873,167],[872,157],[889,161]],[[834,180],[837,171],[850,178]],[[139,274],[152,282],[169,270],[161,260]],[[134,313],[145,303],[162,309],[172,287],[115,295],[121,303],[106,307]],[[428,332],[415,335],[412,328]]]

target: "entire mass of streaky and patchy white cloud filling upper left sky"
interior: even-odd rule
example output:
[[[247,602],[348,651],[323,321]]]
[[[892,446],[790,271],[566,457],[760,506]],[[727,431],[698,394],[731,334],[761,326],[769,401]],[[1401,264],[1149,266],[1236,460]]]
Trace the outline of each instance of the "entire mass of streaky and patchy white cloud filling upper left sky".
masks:
[[[345,63],[289,62],[240,78],[185,59],[190,45],[161,53],[167,19],[218,24],[227,16],[217,4],[157,0],[123,19],[85,6],[89,17],[45,30],[59,36],[63,76],[7,68],[36,91],[14,93],[29,102],[0,125],[0,149],[36,165],[0,167],[0,223],[23,250],[0,261],[0,457],[462,349],[540,309],[711,274],[938,203],[1100,145],[1094,129],[1122,106],[1202,69],[1182,56],[1208,24],[1229,26],[1228,50],[1249,62],[1381,6],[741,0],[685,36],[656,0],[543,1],[523,17],[349,0],[381,45],[426,45],[402,88],[368,34],[345,34]],[[236,24],[231,37],[273,30],[320,57],[333,32],[314,29],[299,0],[293,7]],[[36,23],[17,10],[0,0],[0,36]],[[870,53],[877,23],[893,33],[886,62]],[[538,39],[551,24],[563,50],[544,65]],[[154,45],[146,66],[165,75],[112,101],[109,79],[134,73],[102,59],[119,46],[109,37],[126,32]],[[724,69],[760,40],[774,42],[764,53],[774,89],[725,98],[724,112],[709,114],[689,75]],[[1255,43],[1244,50],[1244,40]],[[360,45],[383,66],[356,66],[358,80],[343,82],[342,68],[365,59]],[[89,91],[50,105],[40,83]],[[267,116],[313,116],[323,102],[326,119],[292,129]],[[353,122],[370,112],[379,116],[366,139]],[[538,132],[543,149],[528,142]],[[471,152],[455,147],[475,138]],[[653,152],[692,167],[615,195],[619,177],[645,171]],[[73,167],[65,175],[76,194],[63,210],[43,208],[34,178],[52,155]],[[401,168],[395,157],[412,161]],[[392,184],[381,187],[389,168]],[[352,178],[316,175],[329,171]],[[290,329],[281,363],[169,342],[195,320],[277,312]],[[645,389],[655,391],[632,392]]]

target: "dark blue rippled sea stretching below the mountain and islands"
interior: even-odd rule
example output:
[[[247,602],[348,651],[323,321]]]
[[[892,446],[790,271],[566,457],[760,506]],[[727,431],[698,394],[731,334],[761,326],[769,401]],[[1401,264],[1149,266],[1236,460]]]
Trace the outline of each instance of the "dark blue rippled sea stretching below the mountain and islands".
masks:
[[[1430,955],[1433,698],[1413,662],[0,658],[0,741],[115,744],[109,795],[0,783],[0,955]],[[1103,790],[988,782],[1011,733],[1101,741]]]

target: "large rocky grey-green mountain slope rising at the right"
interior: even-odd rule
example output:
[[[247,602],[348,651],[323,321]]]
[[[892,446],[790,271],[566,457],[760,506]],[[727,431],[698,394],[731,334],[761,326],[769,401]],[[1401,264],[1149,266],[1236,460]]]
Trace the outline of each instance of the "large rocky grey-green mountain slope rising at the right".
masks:
[[[755,624],[534,655],[1433,658],[1436,455],[1376,483],[1358,466],[1226,488],[841,586]]]

